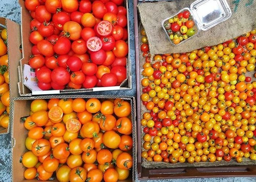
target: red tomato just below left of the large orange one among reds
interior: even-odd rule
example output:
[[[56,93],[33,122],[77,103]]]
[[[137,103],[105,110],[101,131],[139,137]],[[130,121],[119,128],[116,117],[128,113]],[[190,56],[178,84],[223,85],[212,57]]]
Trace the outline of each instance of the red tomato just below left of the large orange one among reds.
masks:
[[[54,44],[54,51],[57,54],[67,54],[71,49],[71,42],[66,37],[61,37]]]

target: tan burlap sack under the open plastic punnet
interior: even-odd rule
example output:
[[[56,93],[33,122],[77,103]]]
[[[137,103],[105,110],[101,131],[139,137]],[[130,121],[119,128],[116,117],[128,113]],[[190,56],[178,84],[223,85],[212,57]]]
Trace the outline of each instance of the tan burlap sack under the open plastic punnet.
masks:
[[[162,29],[162,20],[175,15],[178,11],[195,0],[159,1],[157,3],[141,3],[138,5],[140,19],[146,31],[151,55],[166,53],[183,53],[205,46],[213,46],[238,37],[256,28],[255,0],[227,0],[231,8],[231,17],[207,31],[180,45],[173,46]]]

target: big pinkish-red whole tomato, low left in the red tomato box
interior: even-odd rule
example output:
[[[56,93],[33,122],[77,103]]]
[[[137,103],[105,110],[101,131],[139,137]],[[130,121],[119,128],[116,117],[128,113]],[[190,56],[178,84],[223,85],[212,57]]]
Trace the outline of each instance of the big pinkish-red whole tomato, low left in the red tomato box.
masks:
[[[70,81],[70,75],[65,68],[58,67],[52,71],[51,79],[55,84],[65,86]]]

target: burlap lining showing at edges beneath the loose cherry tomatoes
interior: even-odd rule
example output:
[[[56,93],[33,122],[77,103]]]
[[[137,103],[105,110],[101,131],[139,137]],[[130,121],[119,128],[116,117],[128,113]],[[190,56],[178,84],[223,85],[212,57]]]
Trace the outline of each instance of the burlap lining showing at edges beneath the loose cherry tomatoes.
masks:
[[[140,30],[143,29],[143,26],[141,23],[139,23],[139,41],[141,40],[141,38],[143,37],[140,34]],[[139,45],[141,45],[142,42],[139,42]],[[145,57],[142,56],[142,52],[140,50],[139,53],[139,69],[140,72],[143,71],[143,64],[145,63]],[[161,62],[161,61],[160,61]],[[151,62],[153,63],[153,62]],[[246,76],[250,76],[252,77],[253,81],[256,81],[254,76],[254,71],[251,72],[246,72]],[[144,77],[142,76],[142,74],[140,74],[140,80],[142,80]],[[142,94],[142,86],[140,86],[140,93]],[[141,115],[141,118],[143,118],[143,114],[146,112],[149,112],[149,110],[147,110],[147,108],[145,107],[145,105],[142,104],[142,101],[140,100],[140,108],[141,108],[141,112],[138,113]],[[143,140],[143,127],[141,127],[141,141],[142,141],[142,146],[143,143],[145,142]],[[153,139],[151,139],[151,142],[153,142]],[[142,147],[142,151],[144,151],[145,149],[143,149]],[[256,165],[256,161],[255,160],[250,160],[250,158],[243,158],[243,162],[238,163],[235,161],[235,159],[232,159],[230,162],[226,162],[224,160],[222,161],[216,161],[216,162],[194,162],[194,163],[165,163],[165,162],[150,162],[147,161],[146,159],[142,159],[142,166],[145,168],[179,168],[179,167],[215,167],[215,166],[237,166],[237,165]]]

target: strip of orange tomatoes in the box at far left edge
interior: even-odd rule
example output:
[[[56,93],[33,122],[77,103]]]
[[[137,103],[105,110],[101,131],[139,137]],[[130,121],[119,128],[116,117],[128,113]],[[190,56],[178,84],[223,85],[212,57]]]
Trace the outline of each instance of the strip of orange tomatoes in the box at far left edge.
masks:
[[[10,112],[10,89],[7,54],[7,31],[0,31],[0,127],[8,128]]]

